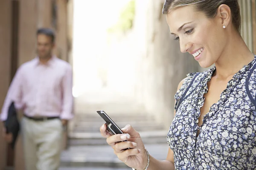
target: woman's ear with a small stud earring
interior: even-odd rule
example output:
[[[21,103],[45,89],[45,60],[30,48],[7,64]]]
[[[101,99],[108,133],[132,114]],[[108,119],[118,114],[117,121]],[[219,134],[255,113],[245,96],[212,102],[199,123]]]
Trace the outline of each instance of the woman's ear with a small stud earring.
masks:
[[[226,4],[221,4],[217,11],[218,17],[221,18],[221,26],[228,26],[231,22],[231,10]]]

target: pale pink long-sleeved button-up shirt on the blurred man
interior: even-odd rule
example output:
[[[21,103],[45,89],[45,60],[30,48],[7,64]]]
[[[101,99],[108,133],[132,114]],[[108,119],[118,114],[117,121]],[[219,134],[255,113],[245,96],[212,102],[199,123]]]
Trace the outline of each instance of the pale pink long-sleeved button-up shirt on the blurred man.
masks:
[[[73,72],[69,63],[52,57],[46,65],[36,57],[20,66],[9,87],[0,119],[7,119],[12,101],[31,117],[73,118]]]

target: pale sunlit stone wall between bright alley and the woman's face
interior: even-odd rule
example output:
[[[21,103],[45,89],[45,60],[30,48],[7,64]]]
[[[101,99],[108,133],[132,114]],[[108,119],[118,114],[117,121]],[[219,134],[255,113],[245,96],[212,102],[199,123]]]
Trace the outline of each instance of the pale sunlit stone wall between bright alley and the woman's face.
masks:
[[[162,14],[164,0],[137,0],[135,27],[141,56],[137,65],[137,99],[147,112],[168,128],[173,119],[174,95],[186,74],[198,71],[190,54],[180,52]]]

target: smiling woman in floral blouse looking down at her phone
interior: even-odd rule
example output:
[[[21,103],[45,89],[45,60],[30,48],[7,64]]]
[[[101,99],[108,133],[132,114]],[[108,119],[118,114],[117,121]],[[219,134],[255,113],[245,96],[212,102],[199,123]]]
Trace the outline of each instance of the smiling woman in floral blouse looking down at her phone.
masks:
[[[215,67],[189,74],[178,85],[166,160],[148,160],[140,134],[130,125],[122,129],[128,142],[120,142],[125,135],[110,136],[105,125],[102,136],[136,170],[256,169],[256,112],[250,100],[255,99],[256,59],[239,34],[237,0],[166,0],[163,14],[180,51],[203,68]]]

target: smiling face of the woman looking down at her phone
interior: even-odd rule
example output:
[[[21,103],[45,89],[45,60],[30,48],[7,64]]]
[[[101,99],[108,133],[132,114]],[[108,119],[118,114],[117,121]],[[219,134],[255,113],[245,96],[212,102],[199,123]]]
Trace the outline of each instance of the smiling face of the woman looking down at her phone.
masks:
[[[220,17],[207,18],[193,6],[177,8],[166,16],[171,34],[180,41],[180,51],[191,54],[201,67],[214,64],[224,51],[227,38]]]

